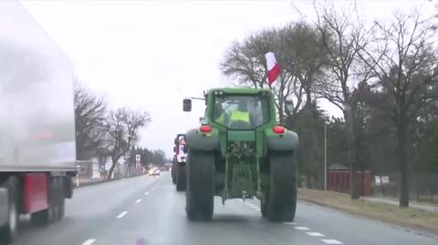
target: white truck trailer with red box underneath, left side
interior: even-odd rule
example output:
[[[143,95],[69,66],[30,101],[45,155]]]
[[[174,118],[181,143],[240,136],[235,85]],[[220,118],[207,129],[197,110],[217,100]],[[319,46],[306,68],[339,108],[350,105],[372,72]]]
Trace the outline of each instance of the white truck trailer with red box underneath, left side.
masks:
[[[73,67],[18,2],[0,1],[0,241],[20,214],[62,219],[76,173]]]

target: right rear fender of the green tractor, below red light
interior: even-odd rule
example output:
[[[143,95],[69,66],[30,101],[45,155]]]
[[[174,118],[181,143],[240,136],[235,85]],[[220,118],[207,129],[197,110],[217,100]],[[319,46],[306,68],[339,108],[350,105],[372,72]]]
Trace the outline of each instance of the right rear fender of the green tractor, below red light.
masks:
[[[266,129],[266,143],[268,150],[295,151],[298,147],[298,136],[294,131],[276,134]]]

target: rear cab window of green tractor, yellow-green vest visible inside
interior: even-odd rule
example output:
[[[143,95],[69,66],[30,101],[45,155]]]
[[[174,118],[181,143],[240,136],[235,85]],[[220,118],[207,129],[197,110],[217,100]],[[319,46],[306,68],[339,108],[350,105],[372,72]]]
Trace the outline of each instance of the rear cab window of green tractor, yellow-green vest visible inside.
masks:
[[[267,98],[221,96],[214,98],[214,122],[230,129],[254,129],[269,121]]]

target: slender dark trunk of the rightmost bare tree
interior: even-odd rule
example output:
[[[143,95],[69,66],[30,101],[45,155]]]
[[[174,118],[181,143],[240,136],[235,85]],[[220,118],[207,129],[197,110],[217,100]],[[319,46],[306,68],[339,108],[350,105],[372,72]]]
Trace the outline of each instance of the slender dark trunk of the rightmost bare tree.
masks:
[[[408,159],[406,158],[406,140],[407,131],[404,121],[401,119],[397,126],[397,159],[400,164],[400,200],[399,206],[402,208],[409,207],[409,168]]]

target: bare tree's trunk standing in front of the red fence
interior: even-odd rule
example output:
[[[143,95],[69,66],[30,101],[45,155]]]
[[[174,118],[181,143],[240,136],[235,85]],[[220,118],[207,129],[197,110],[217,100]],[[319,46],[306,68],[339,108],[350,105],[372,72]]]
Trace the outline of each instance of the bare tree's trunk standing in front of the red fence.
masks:
[[[356,140],[353,130],[353,112],[349,104],[344,105],[344,118],[347,130],[347,154],[349,158],[349,197],[350,199],[359,199],[358,189],[358,167],[356,164]]]

